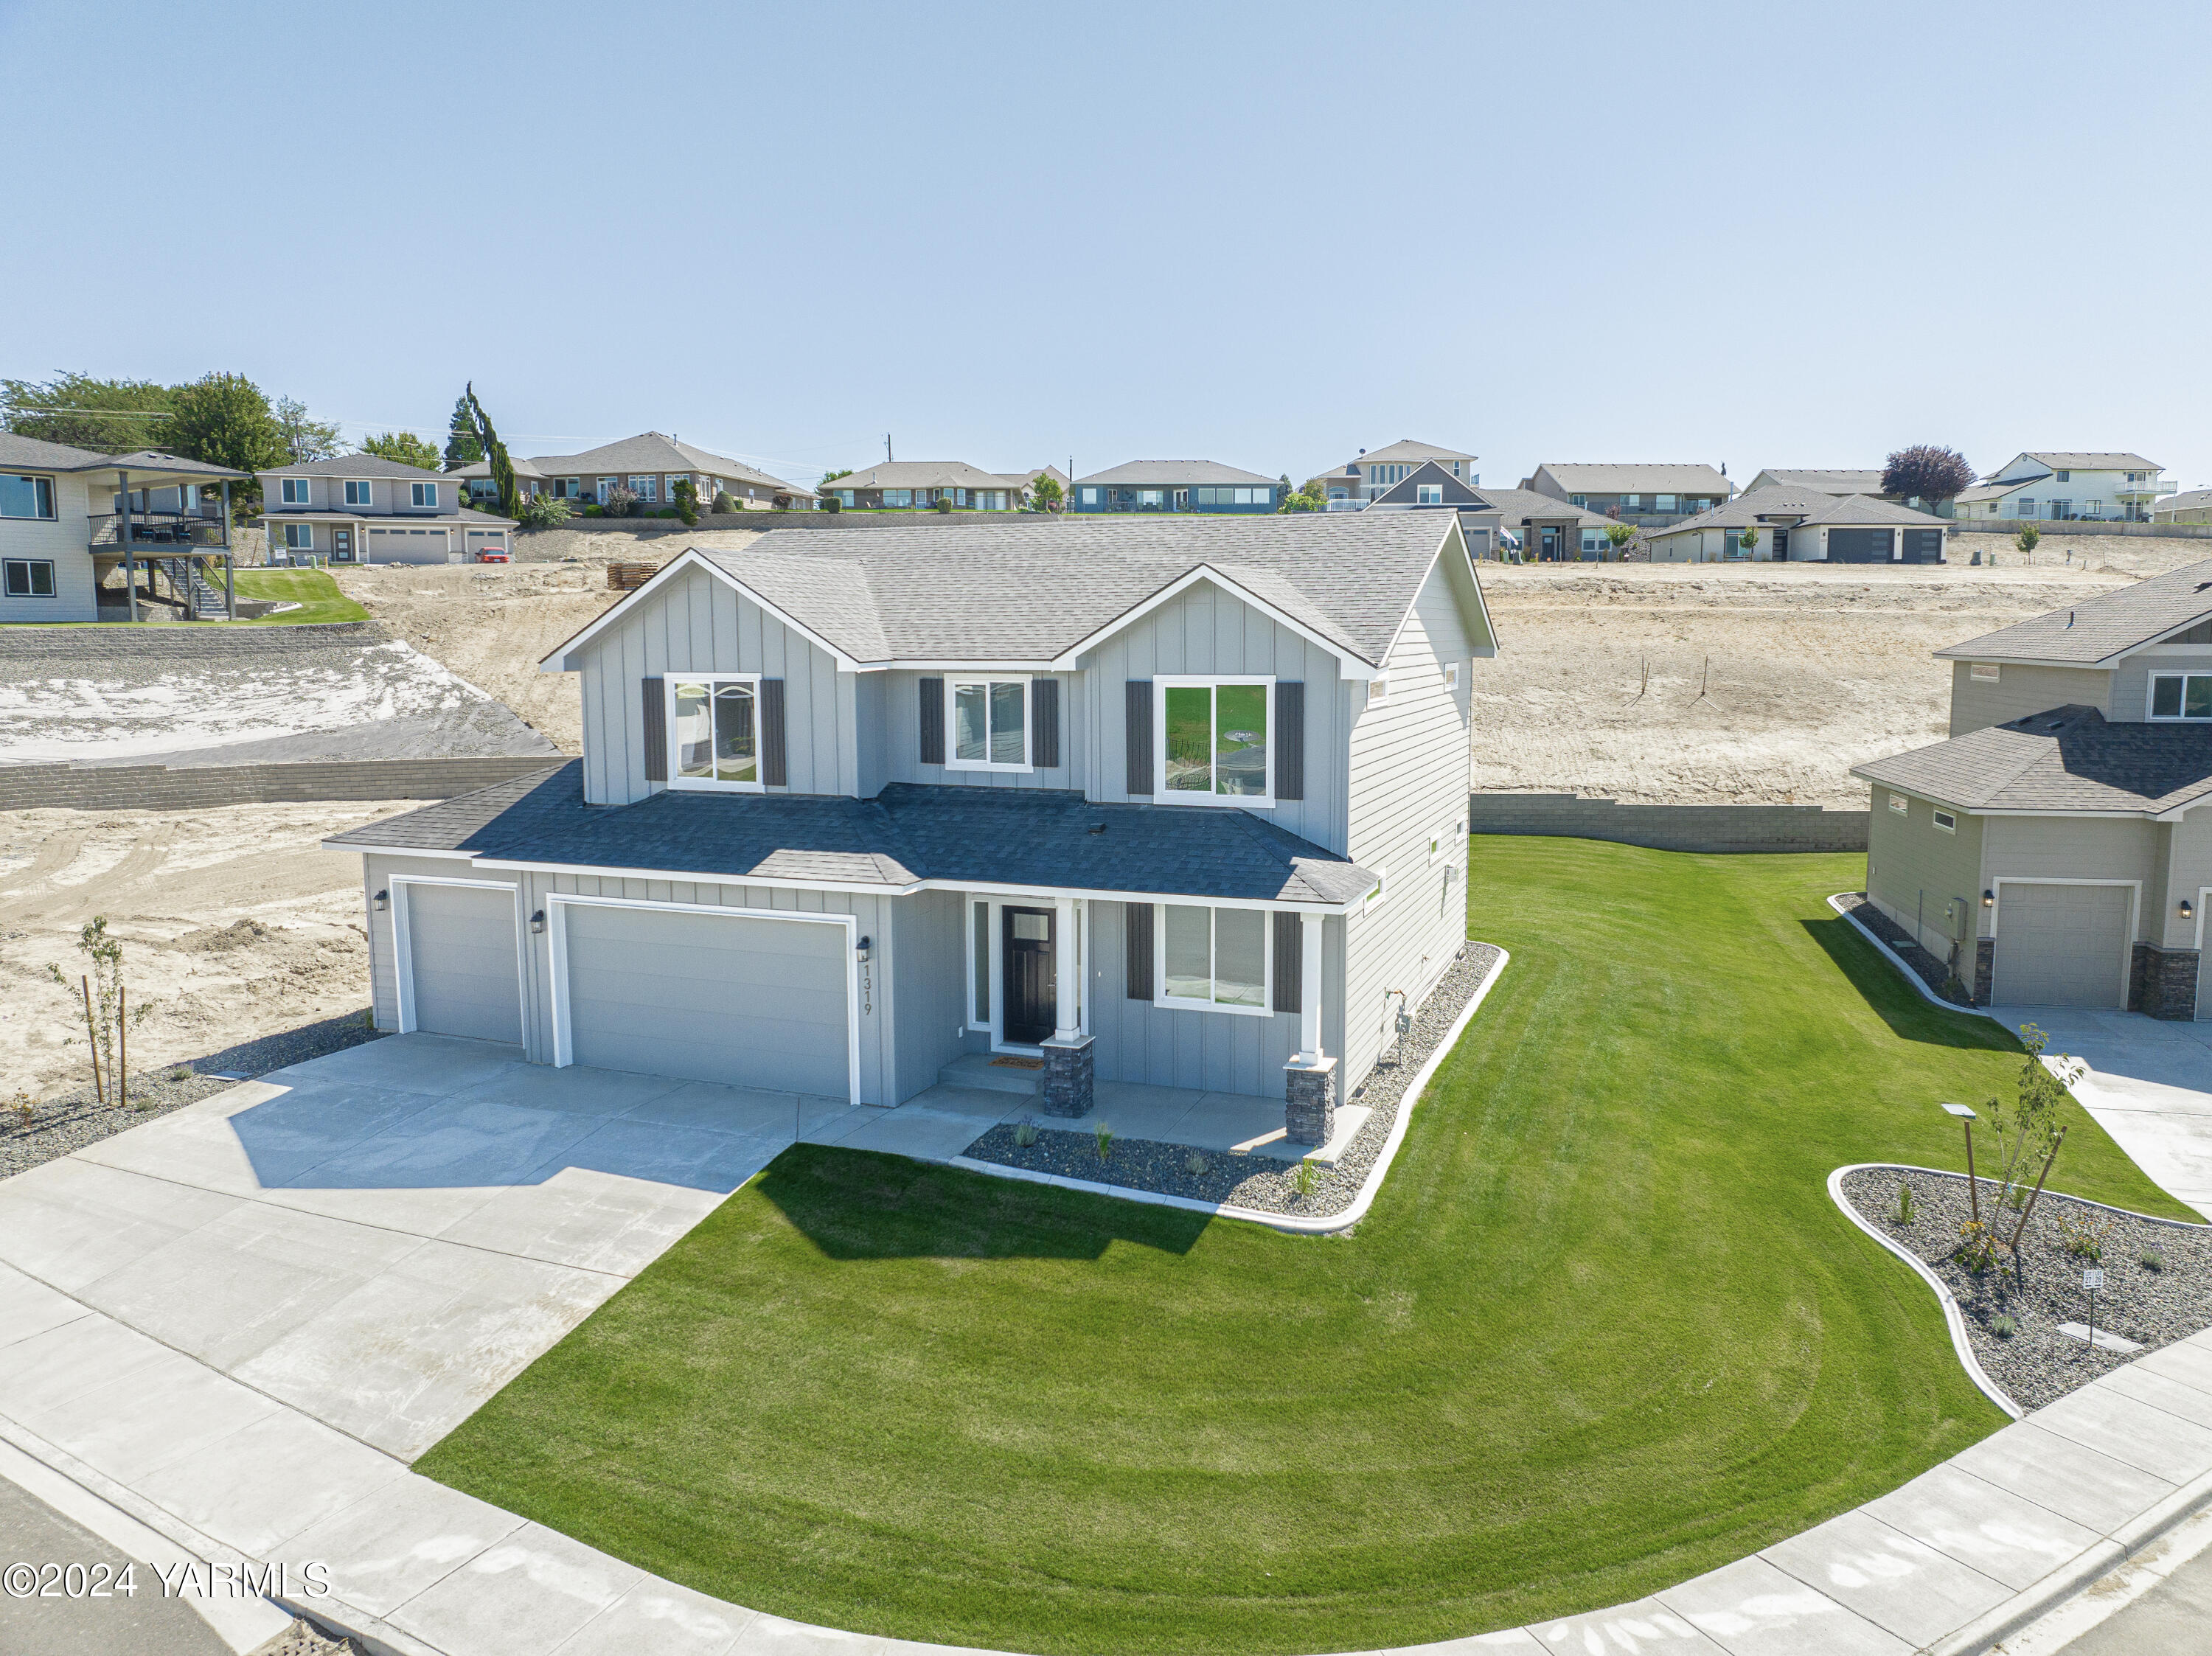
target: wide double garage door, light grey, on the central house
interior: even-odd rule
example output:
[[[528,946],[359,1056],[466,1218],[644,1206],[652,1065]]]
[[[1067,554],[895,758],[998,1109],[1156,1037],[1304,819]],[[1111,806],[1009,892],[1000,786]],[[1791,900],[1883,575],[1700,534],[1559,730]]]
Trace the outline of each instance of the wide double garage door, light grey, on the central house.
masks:
[[[845,926],[562,904],[575,1063],[845,1099]]]

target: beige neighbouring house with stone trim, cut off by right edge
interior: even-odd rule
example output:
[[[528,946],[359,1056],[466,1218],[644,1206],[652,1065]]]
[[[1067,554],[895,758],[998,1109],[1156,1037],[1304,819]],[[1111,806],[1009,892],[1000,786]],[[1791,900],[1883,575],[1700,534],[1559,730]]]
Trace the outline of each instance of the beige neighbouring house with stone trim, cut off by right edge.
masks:
[[[1874,904],[1978,1006],[2212,1017],[2212,562],[1936,654],[1951,738],[1851,769]]]

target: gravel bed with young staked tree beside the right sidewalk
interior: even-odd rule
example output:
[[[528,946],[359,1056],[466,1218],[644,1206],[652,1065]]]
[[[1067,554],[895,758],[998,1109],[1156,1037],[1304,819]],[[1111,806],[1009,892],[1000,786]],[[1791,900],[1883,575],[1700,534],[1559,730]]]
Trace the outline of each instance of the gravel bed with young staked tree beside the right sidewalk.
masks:
[[[1911,1185],[1913,1220],[1898,1223],[1898,1185]],[[1982,1216],[2011,1234],[2017,1214],[1997,1209],[1997,1185],[1982,1187]],[[1953,1258],[1960,1225],[1969,1218],[1966,1176],[1909,1167],[1865,1167],[1845,1174],[1843,1194],[1882,1236],[1911,1249],[1958,1300],[1975,1362],[2022,1408],[2042,1408],[2097,1375],[2128,1362],[2059,1333],[2062,1322],[2088,1322],[2081,1271],[2104,1267],[2097,1291],[2097,1329],[2135,1340],[2146,1351],[2212,1327],[2212,1225],[2137,1218],[2095,1203],[2044,1192],[2020,1238],[2020,1276],[2004,1269],[1969,1271]],[[2066,1225],[2097,1227],[2101,1258],[2066,1251]],[[2146,1254],[2157,1265],[2146,1265]],[[2013,1333],[1993,1327],[2013,1320]]]

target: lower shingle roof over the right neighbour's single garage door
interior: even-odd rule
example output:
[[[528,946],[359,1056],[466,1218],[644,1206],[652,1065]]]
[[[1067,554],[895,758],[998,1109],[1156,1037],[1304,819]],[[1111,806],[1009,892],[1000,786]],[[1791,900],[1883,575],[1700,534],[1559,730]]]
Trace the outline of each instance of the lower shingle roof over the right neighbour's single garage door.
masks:
[[[1966,811],[2170,811],[2212,792],[2212,725],[2053,708],[1874,758],[1854,776]]]

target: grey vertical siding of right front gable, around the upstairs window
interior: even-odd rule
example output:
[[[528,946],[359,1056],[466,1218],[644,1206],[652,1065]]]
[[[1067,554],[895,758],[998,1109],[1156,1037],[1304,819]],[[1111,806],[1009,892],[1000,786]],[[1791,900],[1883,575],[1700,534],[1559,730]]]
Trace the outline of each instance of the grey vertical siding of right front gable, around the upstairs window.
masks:
[[[1336,657],[1307,643],[1287,626],[1272,621],[1239,597],[1217,586],[1199,584],[1161,606],[1135,626],[1115,632],[1084,657],[1088,694],[1062,696],[1071,727],[1077,732],[1071,758],[1077,769],[1071,787],[1084,787],[1095,800],[1137,800],[1126,774],[1126,690],[1130,679],[1170,674],[1265,672],[1296,679],[1305,685],[1305,798],[1283,800],[1272,811],[1259,811],[1276,827],[1323,845],[1345,849],[1345,736],[1352,714],[1352,688],[1338,677]],[[1159,699],[1155,696],[1155,710]],[[1270,738],[1274,732],[1270,732]],[[1190,809],[1214,809],[1194,805]]]

